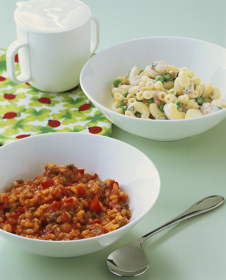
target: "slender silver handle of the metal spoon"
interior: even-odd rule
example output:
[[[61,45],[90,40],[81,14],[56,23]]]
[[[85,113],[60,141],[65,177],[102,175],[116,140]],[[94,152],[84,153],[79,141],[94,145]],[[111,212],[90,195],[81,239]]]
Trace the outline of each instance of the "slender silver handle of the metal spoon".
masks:
[[[191,218],[193,216],[199,215],[201,213],[210,211],[218,206],[220,206],[224,202],[224,198],[220,195],[211,195],[208,197],[205,197],[196,204],[192,205],[189,209],[187,209],[185,212],[177,216],[176,218],[168,221],[164,225],[156,228],[155,230],[152,230],[151,232],[143,235],[139,240],[141,240],[141,243],[145,240],[147,240],[152,235],[164,230],[165,228],[171,227],[172,225],[175,225],[185,219]]]

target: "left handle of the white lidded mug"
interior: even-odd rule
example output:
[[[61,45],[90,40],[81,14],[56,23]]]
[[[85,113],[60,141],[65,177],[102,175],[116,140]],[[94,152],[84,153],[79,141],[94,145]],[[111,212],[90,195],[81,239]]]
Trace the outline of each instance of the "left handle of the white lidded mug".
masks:
[[[14,57],[16,52],[22,48],[27,47],[28,48],[28,42],[22,41],[22,40],[16,40],[8,47],[6,51],[6,69],[8,76],[11,80],[13,80],[16,83],[26,83],[30,80],[30,67],[29,69],[26,69],[25,72],[21,73],[19,76],[16,76],[15,73],[15,66],[14,66]],[[30,64],[30,63],[29,63]]]

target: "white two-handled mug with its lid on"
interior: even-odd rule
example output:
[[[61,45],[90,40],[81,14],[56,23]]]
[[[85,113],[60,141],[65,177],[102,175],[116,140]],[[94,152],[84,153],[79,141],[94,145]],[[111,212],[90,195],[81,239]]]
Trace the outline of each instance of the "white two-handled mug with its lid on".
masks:
[[[100,41],[99,21],[90,8],[77,0],[19,1],[17,6],[17,40],[6,52],[10,79],[29,82],[46,92],[63,92],[77,86],[84,64]],[[18,76],[14,66],[17,51],[21,70]]]

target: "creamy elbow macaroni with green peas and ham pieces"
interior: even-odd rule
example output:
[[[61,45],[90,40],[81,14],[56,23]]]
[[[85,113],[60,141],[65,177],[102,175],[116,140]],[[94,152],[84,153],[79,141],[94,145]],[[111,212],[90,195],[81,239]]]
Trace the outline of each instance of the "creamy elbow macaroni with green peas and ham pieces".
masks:
[[[126,116],[178,120],[226,108],[226,102],[220,99],[220,89],[210,82],[201,83],[201,78],[187,67],[156,61],[145,70],[139,71],[134,66],[117,79],[121,83],[110,88],[113,97],[110,109]]]

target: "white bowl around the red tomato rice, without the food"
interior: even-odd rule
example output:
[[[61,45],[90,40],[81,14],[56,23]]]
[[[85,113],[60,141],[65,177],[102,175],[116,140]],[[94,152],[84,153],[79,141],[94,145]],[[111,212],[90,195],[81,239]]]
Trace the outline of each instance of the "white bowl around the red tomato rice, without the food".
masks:
[[[124,157],[122,158],[122,151]],[[41,134],[0,148],[0,192],[17,179],[32,180],[46,163],[74,163],[100,179],[115,179],[129,195],[130,223],[113,232],[74,241],[44,241],[21,237],[0,229],[0,236],[34,254],[72,257],[105,248],[122,237],[145,214],[159,194],[160,179],[152,161],[136,148],[105,136],[77,132]]]

